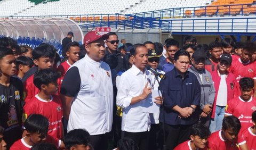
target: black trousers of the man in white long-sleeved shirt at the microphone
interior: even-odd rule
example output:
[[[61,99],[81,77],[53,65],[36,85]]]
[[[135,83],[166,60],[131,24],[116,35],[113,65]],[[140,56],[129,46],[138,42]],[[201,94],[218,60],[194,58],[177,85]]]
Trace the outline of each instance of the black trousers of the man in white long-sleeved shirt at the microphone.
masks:
[[[140,150],[148,150],[149,132],[124,132],[124,137],[134,140]]]

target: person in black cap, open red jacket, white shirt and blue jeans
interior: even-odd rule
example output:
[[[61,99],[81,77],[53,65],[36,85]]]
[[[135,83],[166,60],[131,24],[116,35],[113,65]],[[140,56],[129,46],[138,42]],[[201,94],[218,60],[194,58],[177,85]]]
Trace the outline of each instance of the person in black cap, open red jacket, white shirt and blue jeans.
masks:
[[[234,74],[227,71],[231,62],[232,57],[230,54],[222,54],[217,70],[211,72],[216,91],[212,109],[212,119],[210,122],[211,132],[221,129],[227,102],[234,97],[236,79]]]

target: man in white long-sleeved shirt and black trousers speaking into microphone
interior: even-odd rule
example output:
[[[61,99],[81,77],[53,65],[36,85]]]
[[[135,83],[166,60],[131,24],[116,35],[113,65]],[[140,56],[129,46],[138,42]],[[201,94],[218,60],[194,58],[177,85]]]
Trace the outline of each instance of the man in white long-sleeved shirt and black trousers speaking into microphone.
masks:
[[[142,112],[143,101],[151,93],[151,75],[146,70],[148,51],[142,44],[132,46],[132,68],[125,71],[117,88],[116,104],[122,107],[122,131],[124,137],[130,137],[139,149],[148,150],[150,116]]]

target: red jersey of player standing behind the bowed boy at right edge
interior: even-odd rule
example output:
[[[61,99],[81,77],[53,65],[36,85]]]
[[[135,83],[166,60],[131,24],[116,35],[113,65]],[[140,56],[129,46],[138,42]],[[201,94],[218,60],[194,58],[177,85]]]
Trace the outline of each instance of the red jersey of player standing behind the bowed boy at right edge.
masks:
[[[237,84],[235,85],[235,96],[241,95],[239,88],[239,80],[243,77],[256,79],[256,65],[254,63],[242,63],[241,59],[232,61],[229,71],[236,77]]]

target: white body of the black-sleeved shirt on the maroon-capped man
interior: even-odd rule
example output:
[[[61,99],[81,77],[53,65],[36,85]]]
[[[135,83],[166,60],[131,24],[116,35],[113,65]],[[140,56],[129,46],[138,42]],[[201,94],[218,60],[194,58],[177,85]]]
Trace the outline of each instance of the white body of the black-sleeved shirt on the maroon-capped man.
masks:
[[[69,69],[73,67],[78,68],[81,84],[71,104],[68,131],[86,129],[90,135],[110,132],[113,121],[113,85],[109,65],[85,55]]]

